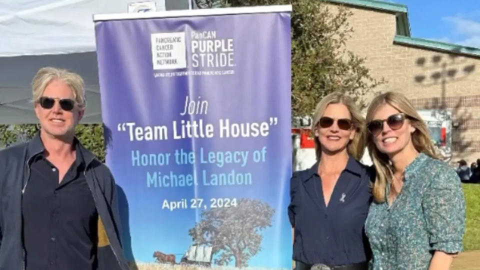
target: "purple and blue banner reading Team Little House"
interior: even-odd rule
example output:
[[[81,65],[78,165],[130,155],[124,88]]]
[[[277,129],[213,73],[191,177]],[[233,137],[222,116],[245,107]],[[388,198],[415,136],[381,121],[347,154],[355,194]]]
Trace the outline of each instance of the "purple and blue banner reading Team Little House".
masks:
[[[139,269],[291,268],[290,14],[265,8],[95,22],[106,161]]]

